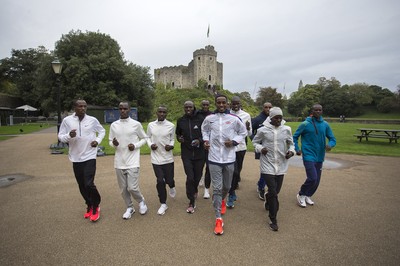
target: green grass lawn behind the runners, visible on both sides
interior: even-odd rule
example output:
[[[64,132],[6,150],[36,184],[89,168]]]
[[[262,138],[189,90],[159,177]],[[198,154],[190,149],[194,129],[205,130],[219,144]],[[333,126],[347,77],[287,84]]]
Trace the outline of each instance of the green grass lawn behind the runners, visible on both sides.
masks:
[[[146,131],[148,123],[142,123]],[[294,133],[300,122],[288,122],[286,125],[292,128]],[[387,139],[370,139],[369,141],[363,140],[359,142],[353,134],[357,134],[357,128],[368,127],[368,128],[390,128],[399,129],[400,125],[391,124],[356,124],[356,123],[330,123],[333,133],[335,134],[337,145],[332,149],[333,153],[349,153],[349,154],[362,154],[362,155],[381,155],[381,156],[398,156],[400,157],[400,141],[399,143],[389,143]],[[54,126],[54,125],[52,125]],[[1,126],[0,127],[0,141],[9,139],[9,136],[4,135],[19,135],[27,134],[41,129],[50,127],[45,124],[28,124],[28,125],[15,125],[15,126]],[[101,142],[101,146],[105,147],[107,155],[113,155],[114,149],[108,145],[108,133],[110,131],[110,125],[104,125],[106,129],[106,136]],[[20,132],[20,129],[22,132]],[[3,136],[2,136],[3,135]],[[248,151],[254,151],[251,142],[248,142]],[[64,152],[67,154],[67,151]],[[150,154],[150,148],[144,145],[141,148],[141,154]],[[174,155],[180,154],[180,144],[175,141]]]

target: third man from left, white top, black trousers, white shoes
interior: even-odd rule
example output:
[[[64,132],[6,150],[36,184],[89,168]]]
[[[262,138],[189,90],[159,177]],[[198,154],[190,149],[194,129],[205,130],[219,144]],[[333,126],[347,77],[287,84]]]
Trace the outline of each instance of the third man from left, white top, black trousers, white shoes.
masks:
[[[157,192],[161,206],[158,215],[164,215],[168,209],[166,184],[169,186],[169,195],[175,198],[174,181],[174,149],[175,125],[166,119],[167,107],[157,108],[157,120],[147,126],[147,143],[151,148],[151,163],[157,178]]]

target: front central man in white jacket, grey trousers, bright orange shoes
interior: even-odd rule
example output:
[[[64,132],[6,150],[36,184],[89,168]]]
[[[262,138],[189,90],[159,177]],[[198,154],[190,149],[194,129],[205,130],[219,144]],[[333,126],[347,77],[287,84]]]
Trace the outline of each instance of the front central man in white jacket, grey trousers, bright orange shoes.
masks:
[[[225,197],[232,184],[232,175],[236,160],[235,147],[247,136],[245,125],[239,117],[227,110],[228,99],[217,95],[217,110],[207,116],[201,126],[204,148],[208,150],[208,162],[213,186],[213,206],[215,210],[216,235],[222,235],[223,220],[221,214],[226,211]]]

